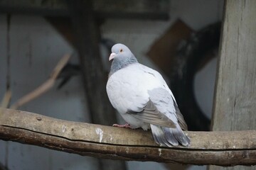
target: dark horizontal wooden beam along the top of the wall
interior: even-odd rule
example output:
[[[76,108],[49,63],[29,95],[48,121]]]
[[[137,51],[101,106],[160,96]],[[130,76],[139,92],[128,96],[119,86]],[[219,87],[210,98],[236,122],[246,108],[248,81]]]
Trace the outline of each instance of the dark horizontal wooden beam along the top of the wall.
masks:
[[[99,18],[169,19],[168,0],[95,0],[92,1],[92,8]],[[56,0],[1,0],[0,11],[42,16],[69,16],[70,14],[65,1]]]

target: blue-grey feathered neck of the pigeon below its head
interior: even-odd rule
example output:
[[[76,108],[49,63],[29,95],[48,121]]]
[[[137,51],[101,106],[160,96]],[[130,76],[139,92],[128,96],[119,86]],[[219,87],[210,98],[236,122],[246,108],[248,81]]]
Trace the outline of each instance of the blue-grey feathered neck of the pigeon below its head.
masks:
[[[126,58],[122,58],[120,57],[115,57],[111,67],[110,67],[110,74],[109,77],[114,74],[115,72],[117,72],[119,69],[123,69],[127,66],[129,66],[130,64],[134,64],[134,63],[138,63],[136,57],[132,56],[132,57],[126,57]]]

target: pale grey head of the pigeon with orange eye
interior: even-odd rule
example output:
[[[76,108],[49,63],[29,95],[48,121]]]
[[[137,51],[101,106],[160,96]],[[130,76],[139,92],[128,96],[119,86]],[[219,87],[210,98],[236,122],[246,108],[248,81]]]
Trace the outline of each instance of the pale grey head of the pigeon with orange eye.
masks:
[[[114,58],[119,58],[119,60],[123,58],[124,60],[127,60],[129,57],[134,57],[131,50],[123,44],[113,45],[111,52],[109,60],[113,60]]]

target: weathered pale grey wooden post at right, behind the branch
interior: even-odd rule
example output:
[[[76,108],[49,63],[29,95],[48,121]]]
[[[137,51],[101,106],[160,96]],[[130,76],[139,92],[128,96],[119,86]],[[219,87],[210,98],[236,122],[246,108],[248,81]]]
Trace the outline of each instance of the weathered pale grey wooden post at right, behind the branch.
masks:
[[[256,1],[225,1],[213,130],[256,129]],[[210,170],[225,169],[210,166]],[[228,169],[256,169],[232,167]]]

